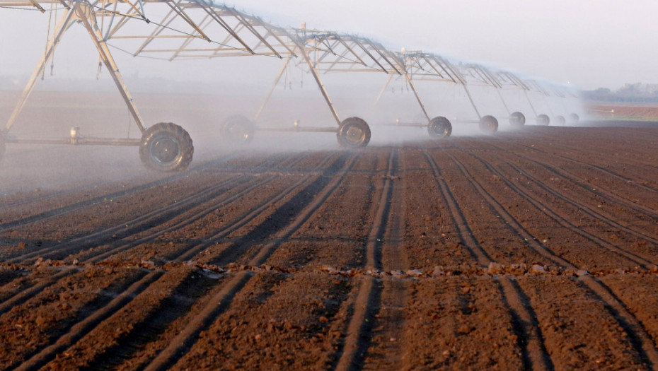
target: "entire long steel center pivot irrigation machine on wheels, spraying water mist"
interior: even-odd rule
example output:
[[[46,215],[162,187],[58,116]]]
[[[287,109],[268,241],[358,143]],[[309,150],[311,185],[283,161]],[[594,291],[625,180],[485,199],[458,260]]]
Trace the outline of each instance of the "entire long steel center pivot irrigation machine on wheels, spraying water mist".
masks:
[[[496,89],[502,88],[505,84],[498,82],[491,73],[475,76],[470,74],[473,73],[473,69],[460,71],[456,66],[434,54],[390,52],[379,43],[364,37],[306,30],[304,25],[301,28],[281,28],[266,23],[257,16],[250,16],[229,6],[214,4],[210,0],[0,0],[0,7],[38,10],[50,14],[49,37],[45,51],[6,126],[0,130],[0,158],[4,155],[6,143],[96,144],[139,146],[139,157],[144,165],[156,170],[184,170],[190,164],[194,152],[190,134],[181,126],[169,122],[146,126],[112,57],[110,47],[129,52],[134,57],[158,57],[170,61],[239,56],[282,59],[284,63],[272,89],[253,115],[253,119],[243,116],[229,117],[221,127],[221,134],[233,141],[250,141],[256,129],[266,129],[257,126],[256,122],[291,63],[312,74],[337,126],[301,127],[295,122],[292,128],[277,130],[329,132],[337,135],[341,146],[366,146],[371,136],[369,125],[359,117],[340,119],[321,80],[323,73],[365,71],[388,74],[386,85],[393,76],[404,78],[411,86],[427,119],[425,123],[408,124],[408,126],[427,126],[431,136],[449,136],[452,126],[445,117],[430,118],[414,81],[443,81],[463,86],[478,116],[479,121],[476,122],[479,122],[480,129],[494,132],[498,127],[494,117],[480,115],[467,87],[469,83],[485,83]],[[53,15],[56,23],[51,33],[50,19]],[[53,58],[62,37],[76,24],[81,25],[91,38],[98,51],[100,62],[108,69],[134,123],[139,128],[140,138],[81,136],[77,128],[71,129],[69,136],[59,139],[21,138],[9,134],[33,92],[38,78],[42,76],[45,66]],[[485,71],[475,70],[479,71],[478,73]],[[469,76],[471,81],[468,79]],[[524,93],[533,90],[520,79],[513,82],[514,84],[518,82],[518,87],[522,88]],[[527,93],[526,98],[528,98]],[[530,101],[530,98],[528,100]],[[516,113],[519,112],[510,114],[510,117],[514,118]],[[524,117],[521,119],[525,122]]]

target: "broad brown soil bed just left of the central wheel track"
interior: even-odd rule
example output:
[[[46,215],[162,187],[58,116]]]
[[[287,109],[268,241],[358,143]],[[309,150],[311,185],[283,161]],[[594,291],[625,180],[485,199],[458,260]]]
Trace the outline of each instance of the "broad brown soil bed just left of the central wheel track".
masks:
[[[341,259],[342,263],[338,263],[338,266],[343,264],[362,266],[361,258],[364,257],[369,229],[366,226],[370,224],[367,220],[371,219],[367,213],[369,205],[376,201],[371,200],[370,195],[374,194],[374,184],[377,182],[376,179],[380,172],[386,171],[386,158],[379,160],[378,154],[379,151],[364,151],[364,155],[359,157],[359,161],[351,168],[345,181],[330,195],[329,199],[321,204],[318,211],[301,225],[301,228],[296,230],[281,247],[270,255],[267,259],[268,265],[261,266],[260,273],[257,273],[255,279],[250,280],[246,286],[248,290],[241,290],[233,298],[229,309],[221,313],[207,331],[203,332],[204,336],[201,336],[195,346],[178,361],[176,367],[190,369],[214,367],[212,366],[215,364],[213,361],[224,362],[226,360],[226,368],[236,367],[236,365],[244,365],[247,368],[263,367],[263,369],[292,365],[301,368],[325,368],[335,362],[332,359],[333,351],[340,345],[340,334],[344,332],[345,324],[350,317],[347,307],[353,306],[354,295],[352,294],[356,290],[350,290],[350,287],[353,286],[352,278],[340,275],[332,278],[334,274],[329,273],[332,269],[327,270],[326,265],[316,266],[316,264],[322,264],[326,258],[335,261],[333,258],[335,254],[346,254],[352,259]],[[372,165],[377,165],[376,171],[366,172],[364,170],[364,168],[371,169]],[[354,197],[355,194],[359,196]],[[354,203],[359,206],[355,208]],[[352,212],[356,211],[359,217],[354,218],[352,212],[345,213],[344,207],[349,208]],[[337,212],[337,210],[342,210],[342,212]],[[321,244],[318,246],[311,242],[315,239],[304,237],[306,234],[325,235],[328,229],[342,228],[343,223],[349,223],[347,220],[354,220],[354,226],[359,225],[360,231],[351,235],[349,244],[345,244],[345,238],[330,237],[330,240],[336,240],[338,245]],[[308,245],[309,242],[311,245]],[[316,254],[319,252],[318,250],[333,249],[334,247],[340,252],[334,250]],[[300,255],[304,257],[296,259]],[[306,259],[306,257],[313,258]],[[244,257],[239,259],[239,262],[240,266],[250,269],[250,266],[242,265],[249,264]],[[310,265],[307,266],[307,264]],[[233,266],[233,264],[229,266]],[[268,271],[269,269],[272,271]],[[268,288],[262,290],[259,287],[262,281],[272,280],[268,277],[279,277],[277,278],[278,283],[274,287],[268,285]],[[316,283],[313,288],[304,288],[308,285],[307,280]],[[291,293],[296,293],[294,295],[296,300],[289,296]],[[350,293],[350,298],[345,300],[348,293]],[[339,298],[336,298],[335,295]],[[318,306],[318,302],[323,302],[323,304]],[[299,310],[301,312],[297,312]],[[299,315],[289,317],[294,312]],[[245,317],[244,313],[258,313],[258,315]],[[325,317],[318,317],[321,314]],[[243,318],[244,320],[242,320]],[[230,334],[225,331],[226,326],[232,329]],[[274,336],[273,334],[279,335]],[[221,338],[222,345],[215,343],[216,336]],[[253,347],[252,343],[243,343],[245,339],[253,340],[254,338],[258,338],[256,347]],[[297,341],[292,341],[292,338],[296,338]],[[224,343],[230,345],[223,346]],[[280,346],[280,350],[284,353],[290,354],[294,350],[300,354],[294,357],[292,355],[282,357],[280,352],[272,348],[274,344],[277,344],[277,348]],[[207,351],[208,346],[212,347],[212,351]],[[322,355],[319,357],[318,347],[323,348]],[[240,351],[241,349],[244,351]],[[262,351],[269,355],[264,355]],[[272,351],[274,352],[271,353]],[[272,365],[276,365],[276,367]]]

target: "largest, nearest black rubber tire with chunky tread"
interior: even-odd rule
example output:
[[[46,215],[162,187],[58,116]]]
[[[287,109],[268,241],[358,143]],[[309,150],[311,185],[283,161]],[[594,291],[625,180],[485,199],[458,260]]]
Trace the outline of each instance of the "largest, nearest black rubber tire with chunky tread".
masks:
[[[171,122],[151,126],[142,136],[139,158],[142,163],[159,171],[182,171],[192,162],[194,146],[190,134]]]

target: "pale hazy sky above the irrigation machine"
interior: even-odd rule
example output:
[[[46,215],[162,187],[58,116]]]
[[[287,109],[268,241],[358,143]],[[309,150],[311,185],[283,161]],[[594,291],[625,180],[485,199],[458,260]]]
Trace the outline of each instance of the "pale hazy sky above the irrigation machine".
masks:
[[[658,83],[656,0],[242,0],[279,25],[358,33],[399,50],[463,61],[590,89]],[[23,14],[30,13],[30,14]],[[47,16],[0,8],[0,75],[29,74]],[[79,42],[72,50],[90,50]],[[82,49],[81,49],[82,48]],[[9,51],[9,52],[6,52]]]

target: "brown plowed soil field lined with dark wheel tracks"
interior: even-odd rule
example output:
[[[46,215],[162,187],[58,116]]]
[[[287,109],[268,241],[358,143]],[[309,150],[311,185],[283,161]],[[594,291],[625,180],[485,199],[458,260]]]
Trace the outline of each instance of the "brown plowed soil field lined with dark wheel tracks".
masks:
[[[213,149],[8,146],[0,369],[658,368],[658,126]]]

